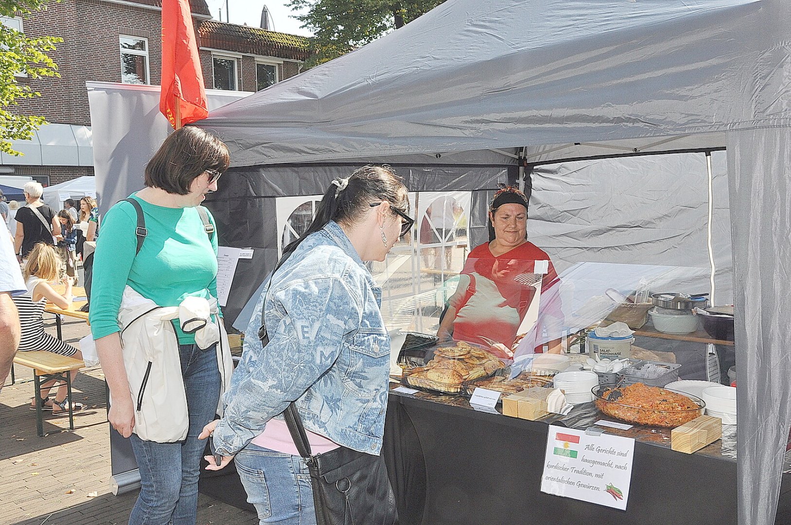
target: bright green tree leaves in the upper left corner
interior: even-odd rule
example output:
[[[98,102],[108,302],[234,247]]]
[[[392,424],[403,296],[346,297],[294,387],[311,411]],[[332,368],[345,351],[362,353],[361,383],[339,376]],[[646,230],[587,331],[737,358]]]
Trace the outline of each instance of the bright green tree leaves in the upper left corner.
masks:
[[[27,17],[47,9],[47,0],[0,0],[0,17]],[[19,83],[19,74],[28,79],[57,77],[58,66],[47,56],[62,39],[53,36],[31,38],[6,24],[0,23],[0,151],[21,155],[14,151],[12,140],[32,137],[33,131],[46,123],[44,117],[17,115],[9,111],[18,99],[41,96],[29,85]]]

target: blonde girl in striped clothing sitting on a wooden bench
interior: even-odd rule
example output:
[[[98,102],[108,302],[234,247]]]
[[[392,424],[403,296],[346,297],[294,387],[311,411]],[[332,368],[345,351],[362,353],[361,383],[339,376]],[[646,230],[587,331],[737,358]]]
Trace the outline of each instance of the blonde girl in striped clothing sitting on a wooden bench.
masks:
[[[19,311],[19,322],[22,334],[19,341],[19,351],[28,352],[30,350],[47,350],[47,352],[58,353],[66,357],[82,359],[82,354],[74,346],[62,342],[50,334],[44,333],[44,306],[47,300],[51,301],[58,308],[69,308],[73,298],[71,287],[72,278],[63,278],[66,289],[63,295],[55,292],[51,282],[59,278],[63,266],[62,259],[55,247],[49,244],[36,244],[28,255],[28,262],[25,264],[26,293],[13,296],[13,302]],[[71,373],[71,380],[77,376],[77,371]],[[62,384],[55,393],[54,399],[48,399],[50,388],[55,384],[55,380],[48,381],[41,385],[41,399],[44,410],[52,410],[53,413],[68,412],[69,399],[66,398],[66,385]],[[83,406],[78,402],[71,402],[73,410],[82,410]],[[36,410],[36,400],[33,399],[30,410]]]

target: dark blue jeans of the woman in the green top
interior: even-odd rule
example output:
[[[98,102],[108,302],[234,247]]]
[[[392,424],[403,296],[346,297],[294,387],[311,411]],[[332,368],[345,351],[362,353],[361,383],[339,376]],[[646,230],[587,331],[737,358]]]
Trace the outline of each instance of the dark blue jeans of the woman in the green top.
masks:
[[[179,354],[190,419],[187,439],[154,443],[132,434],[141,489],[129,525],[195,525],[197,519],[200,459],[206,447],[198,435],[217,411],[220,371],[214,346],[202,351],[180,345]]]

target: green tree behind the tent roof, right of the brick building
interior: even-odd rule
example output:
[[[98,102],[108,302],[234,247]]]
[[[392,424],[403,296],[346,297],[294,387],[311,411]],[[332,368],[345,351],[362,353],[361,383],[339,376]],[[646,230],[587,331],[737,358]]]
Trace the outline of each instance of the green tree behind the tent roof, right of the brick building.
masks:
[[[316,66],[377,40],[426,13],[445,0],[291,0],[292,9],[308,9],[298,15],[302,27],[313,32]]]

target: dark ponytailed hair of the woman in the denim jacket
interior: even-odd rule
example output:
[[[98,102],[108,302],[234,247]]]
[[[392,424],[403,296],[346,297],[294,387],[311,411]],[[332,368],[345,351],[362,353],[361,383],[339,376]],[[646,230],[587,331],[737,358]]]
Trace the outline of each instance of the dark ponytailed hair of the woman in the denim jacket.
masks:
[[[329,221],[354,223],[369,209],[369,204],[377,200],[386,200],[404,213],[409,213],[407,187],[388,165],[363,166],[347,179],[333,180],[324,192],[308,229],[283,249],[283,259],[296,250],[307,236],[323,229]]]

